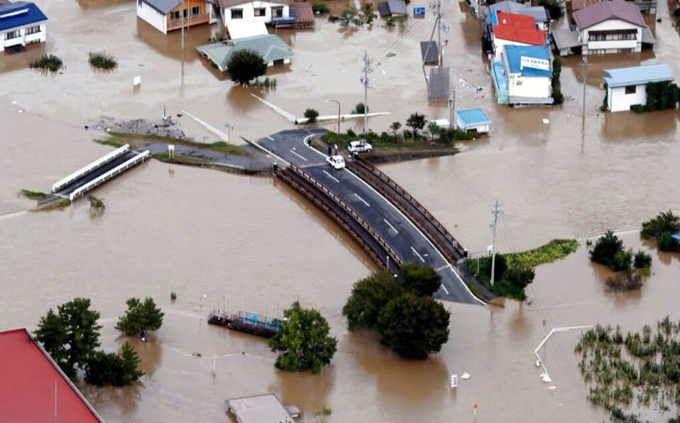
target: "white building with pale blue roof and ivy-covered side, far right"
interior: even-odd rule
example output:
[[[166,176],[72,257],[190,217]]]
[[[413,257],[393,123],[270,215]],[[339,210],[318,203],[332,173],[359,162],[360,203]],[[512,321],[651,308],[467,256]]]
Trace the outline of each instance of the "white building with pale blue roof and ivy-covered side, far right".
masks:
[[[635,104],[647,104],[649,82],[673,81],[673,70],[665,63],[603,70],[607,84],[607,109],[628,111]]]

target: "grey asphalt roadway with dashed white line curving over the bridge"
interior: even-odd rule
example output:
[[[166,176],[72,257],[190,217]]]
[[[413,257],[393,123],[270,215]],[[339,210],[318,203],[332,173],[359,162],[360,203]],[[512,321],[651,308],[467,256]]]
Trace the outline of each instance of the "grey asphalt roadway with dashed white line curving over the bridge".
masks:
[[[442,275],[442,286],[435,292],[435,298],[483,304],[472,295],[451,263],[446,261],[427,236],[393,204],[353,172],[346,169],[335,170],[326,163],[323,153],[307,146],[305,138],[317,133],[319,131],[314,130],[281,131],[261,138],[257,143],[273,155],[302,168],[343,199],[356,214],[371,224],[402,262],[432,266]]]

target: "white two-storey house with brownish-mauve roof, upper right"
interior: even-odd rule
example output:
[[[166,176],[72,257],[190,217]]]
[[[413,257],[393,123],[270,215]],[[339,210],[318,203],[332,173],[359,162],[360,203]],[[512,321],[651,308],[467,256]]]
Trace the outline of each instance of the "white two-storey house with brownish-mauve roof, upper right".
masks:
[[[605,0],[574,12],[583,55],[640,52],[656,41],[640,9],[630,1]]]

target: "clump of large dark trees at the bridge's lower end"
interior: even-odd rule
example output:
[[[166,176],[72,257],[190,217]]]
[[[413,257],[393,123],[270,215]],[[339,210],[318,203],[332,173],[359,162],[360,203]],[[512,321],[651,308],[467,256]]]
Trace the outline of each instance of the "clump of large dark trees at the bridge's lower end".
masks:
[[[395,277],[396,276],[396,277]],[[378,331],[380,342],[407,358],[427,358],[449,339],[449,312],[430,297],[442,277],[430,267],[402,265],[356,282],[342,309],[349,330]]]

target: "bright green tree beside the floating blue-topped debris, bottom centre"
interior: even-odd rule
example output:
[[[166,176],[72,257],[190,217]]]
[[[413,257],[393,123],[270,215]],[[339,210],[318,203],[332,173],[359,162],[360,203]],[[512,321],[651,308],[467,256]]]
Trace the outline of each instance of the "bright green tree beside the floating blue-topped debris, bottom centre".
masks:
[[[312,370],[319,373],[331,362],[338,341],[329,336],[330,326],[315,309],[304,309],[294,302],[283,312],[286,320],[269,340],[272,351],[279,352],[275,366],[288,371]]]

